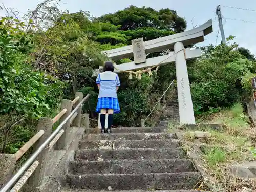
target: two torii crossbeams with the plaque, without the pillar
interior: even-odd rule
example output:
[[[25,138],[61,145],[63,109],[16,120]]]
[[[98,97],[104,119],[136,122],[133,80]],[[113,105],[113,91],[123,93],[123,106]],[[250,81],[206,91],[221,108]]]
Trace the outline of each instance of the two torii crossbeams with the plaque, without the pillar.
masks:
[[[211,19],[203,25],[191,29],[189,31],[185,31],[182,33],[169,35],[166,37],[161,37],[153,40],[148,40],[143,42],[143,38],[132,40],[132,44],[130,46],[124,46],[121,48],[116,48],[108,51],[102,51],[109,59],[111,60],[119,60],[123,58],[134,57],[133,62],[123,63],[120,65],[116,65],[115,73],[119,73],[122,71],[129,70],[139,70],[143,68],[148,68],[159,65],[166,65],[168,63],[175,62],[175,52],[169,52],[168,55],[154,57],[150,59],[146,59],[146,54],[154,53],[158,51],[167,50],[170,48],[174,48],[174,45],[177,42],[181,42],[183,46],[196,44],[198,42],[204,41],[204,36],[208,35],[212,32],[212,21]],[[137,47],[139,46],[139,48]],[[140,52],[137,55],[138,51]],[[186,59],[195,59],[201,57],[200,49],[186,49]],[[139,65],[138,65],[139,64]],[[92,77],[97,76],[100,73],[100,69],[94,70]]]

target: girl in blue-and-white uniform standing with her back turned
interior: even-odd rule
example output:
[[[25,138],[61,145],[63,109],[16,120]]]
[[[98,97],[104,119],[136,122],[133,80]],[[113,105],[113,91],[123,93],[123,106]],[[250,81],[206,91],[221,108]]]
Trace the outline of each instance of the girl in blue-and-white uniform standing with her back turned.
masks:
[[[111,133],[110,128],[113,123],[113,114],[120,113],[116,94],[120,81],[118,75],[113,72],[114,65],[112,62],[105,62],[103,71],[96,79],[99,89],[96,112],[100,113],[101,133]],[[108,113],[108,127],[105,130],[106,113]]]

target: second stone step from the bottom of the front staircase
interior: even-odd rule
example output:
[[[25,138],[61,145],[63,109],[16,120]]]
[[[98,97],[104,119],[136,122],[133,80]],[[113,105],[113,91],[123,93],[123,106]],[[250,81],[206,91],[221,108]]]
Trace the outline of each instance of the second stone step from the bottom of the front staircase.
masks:
[[[193,172],[188,159],[70,161],[70,174],[149,174]]]

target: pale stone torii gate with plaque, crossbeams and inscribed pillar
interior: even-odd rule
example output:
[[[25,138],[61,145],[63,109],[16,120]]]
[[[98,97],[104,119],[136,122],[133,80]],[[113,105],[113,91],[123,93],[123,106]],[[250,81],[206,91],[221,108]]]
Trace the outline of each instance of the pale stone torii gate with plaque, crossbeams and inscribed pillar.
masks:
[[[180,124],[196,124],[186,60],[201,57],[200,49],[184,49],[184,46],[204,41],[204,36],[212,32],[211,19],[203,25],[182,33],[160,37],[143,42],[143,38],[132,40],[132,45],[103,51],[110,60],[119,60],[134,57],[134,62],[116,65],[115,73],[122,71],[140,70],[157,65],[166,65],[175,62],[178,88]],[[146,59],[146,54],[174,48],[168,55]],[[93,72],[93,77],[100,73],[100,69]]]

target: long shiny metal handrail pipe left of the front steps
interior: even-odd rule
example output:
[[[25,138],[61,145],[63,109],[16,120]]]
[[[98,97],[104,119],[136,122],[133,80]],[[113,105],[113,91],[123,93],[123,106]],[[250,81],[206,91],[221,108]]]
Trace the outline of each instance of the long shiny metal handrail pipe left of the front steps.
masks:
[[[65,123],[75,114],[75,112],[78,110],[78,108],[83,104],[84,101],[86,101],[89,98],[90,94],[88,94],[86,97],[83,98],[83,100],[75,107],[75,109],[68,115],[66,119],[64,119],[59,126],[54,130],[54,132],[46,139],[42,145],[31,155],[31,157],[23,164],[22,167],[18,170],[18,172],[5,184],[0,192],[7,192],[11,189],[11,187],[18,181],[20,177],[23,176],[24,172],[31,166],[31,164],[34,162],[34,160],[37,158],[37,156],[47,147],[47,145],[54,139],[54,137],[59,133],[62,126],[65,125]]]

